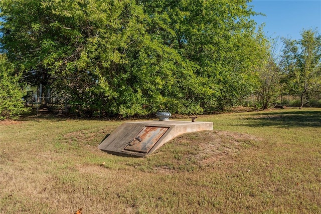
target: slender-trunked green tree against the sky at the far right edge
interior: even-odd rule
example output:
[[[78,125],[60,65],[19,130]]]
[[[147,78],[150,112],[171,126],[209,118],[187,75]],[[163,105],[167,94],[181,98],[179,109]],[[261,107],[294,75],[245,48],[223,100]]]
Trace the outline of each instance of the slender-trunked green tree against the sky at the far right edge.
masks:
[[[321,88],[321,35],[303,30],[300,40],[283,39],[283,70],[289,91],[301,97],[300,109],[309,95]]]

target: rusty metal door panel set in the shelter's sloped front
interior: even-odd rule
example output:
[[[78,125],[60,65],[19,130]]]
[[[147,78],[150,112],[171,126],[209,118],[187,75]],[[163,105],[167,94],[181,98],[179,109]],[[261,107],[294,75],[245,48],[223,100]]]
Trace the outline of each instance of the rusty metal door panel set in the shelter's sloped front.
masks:
[[[148,153],[155,143],[165,134],[168,127],[145,126],[124,150]]]

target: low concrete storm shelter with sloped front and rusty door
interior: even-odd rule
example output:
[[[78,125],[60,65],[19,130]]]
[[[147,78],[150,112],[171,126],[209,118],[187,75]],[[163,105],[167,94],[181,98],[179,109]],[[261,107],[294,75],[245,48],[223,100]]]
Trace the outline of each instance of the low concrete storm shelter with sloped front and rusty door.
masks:
[[[98,148],[111,154],[144,157],[178,135],[204,130],[213,130],[213,122],[127,122],[105,138]]]

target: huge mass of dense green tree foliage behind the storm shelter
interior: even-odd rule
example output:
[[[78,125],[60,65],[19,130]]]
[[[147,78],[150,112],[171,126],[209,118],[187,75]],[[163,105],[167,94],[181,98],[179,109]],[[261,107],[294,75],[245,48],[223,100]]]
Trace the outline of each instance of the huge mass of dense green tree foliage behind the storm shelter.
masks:
[[[3,0],[0,42],[26,82],[81,115],[201,114],[258,85],[266,40],[247,3]]]

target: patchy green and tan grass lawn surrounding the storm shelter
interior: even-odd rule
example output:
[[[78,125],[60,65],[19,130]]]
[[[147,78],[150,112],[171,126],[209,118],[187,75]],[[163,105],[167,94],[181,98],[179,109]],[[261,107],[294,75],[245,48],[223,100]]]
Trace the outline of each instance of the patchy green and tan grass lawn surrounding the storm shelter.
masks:
[[[321,213],[321,108],[198,121],[146,158],[97,149],[125,121],[2,121],[0,213]]]

